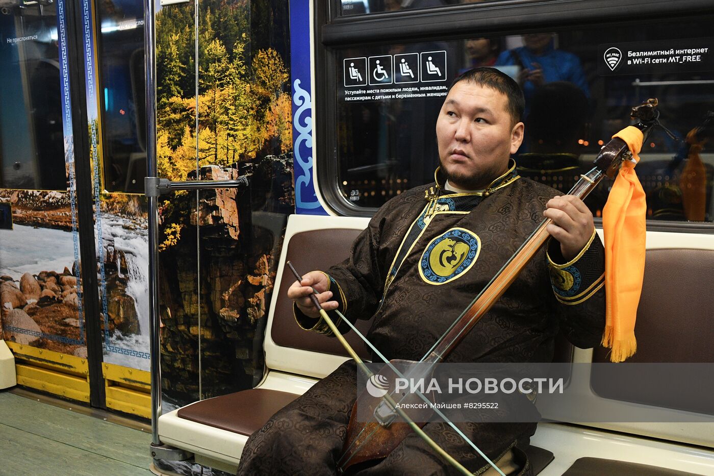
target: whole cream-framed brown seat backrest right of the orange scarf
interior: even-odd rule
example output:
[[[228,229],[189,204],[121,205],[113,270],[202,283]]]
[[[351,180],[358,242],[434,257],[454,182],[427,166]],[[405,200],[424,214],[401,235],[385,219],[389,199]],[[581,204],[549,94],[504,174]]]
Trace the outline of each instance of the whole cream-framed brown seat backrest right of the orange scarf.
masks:
[[[714,447],[714,382],[704,377],[714,363],[714,234],[648,231],[646,253],[637,352],[613,364],[610,349],[575,349],[570,410],[546,398],[539,410],[549,420]]]

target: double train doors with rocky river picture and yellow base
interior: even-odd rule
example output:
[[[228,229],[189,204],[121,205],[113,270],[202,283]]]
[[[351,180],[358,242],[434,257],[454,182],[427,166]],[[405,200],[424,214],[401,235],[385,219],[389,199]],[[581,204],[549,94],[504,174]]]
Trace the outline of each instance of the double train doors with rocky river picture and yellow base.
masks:
[[[143,4],[4,2],[3,337],[19,385],[149,417]]]

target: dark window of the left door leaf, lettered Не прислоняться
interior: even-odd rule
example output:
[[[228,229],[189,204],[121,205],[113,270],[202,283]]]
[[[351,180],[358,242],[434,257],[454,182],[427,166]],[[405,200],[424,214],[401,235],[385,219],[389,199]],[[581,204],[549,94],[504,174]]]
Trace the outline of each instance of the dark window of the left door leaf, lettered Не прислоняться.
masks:
[[[0,11],[0,188],[66,190],[55,5]]]

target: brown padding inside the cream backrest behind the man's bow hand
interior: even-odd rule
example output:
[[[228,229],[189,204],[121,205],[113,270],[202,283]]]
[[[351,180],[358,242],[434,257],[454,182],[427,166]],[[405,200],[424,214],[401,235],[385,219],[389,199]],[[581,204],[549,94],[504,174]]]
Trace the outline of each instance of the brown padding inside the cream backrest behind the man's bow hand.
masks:
[[[352,242],[361,232],[362,230],[359,229],[335,228],[294,234],[288,242],[286,259],[291,261],[295,269],[301,274],[306,274],[314,269],[328,269],[333,264],[338,264],[349,257]],[[349,354],[334,337],[328,337],[316,332],[306,332],[295,322],[293,302],[286,298],[288,287],[293,282],[295,282],[295,277],[293,277],[290,269],[285,267],[281,277],[280,289],[276,290],[279,293],[279,299],[273,315],[273,327],[271,327],[273,341],[283,347],[348,357]],[[359,319],[356,322],[356,327],[362,334],[366,334],[371,322],[371,319]],[[345,338],[360,357],[363,359],[371,358],[371,352],[368,351],[362,339],[354,332],[346,332]]]

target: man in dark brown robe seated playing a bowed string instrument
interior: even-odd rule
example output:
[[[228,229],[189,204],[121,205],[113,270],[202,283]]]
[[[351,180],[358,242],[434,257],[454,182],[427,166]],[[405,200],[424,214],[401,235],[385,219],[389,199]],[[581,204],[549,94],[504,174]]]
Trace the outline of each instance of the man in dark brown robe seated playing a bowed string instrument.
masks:
[[[548,256],[538,252],[446,362],[549,362],[558,329],[579,347],[598,344],[604,257],[592,214],[575,197],[518,177],[510,155],[523,140],[521,114],[523,94],[505,74],[478,68],[458,76],[436,122],[436,183],[391,199],[345,262],[291,286],[301,327],[330,333],[308,299],[314,288],[328,311],[352,320],[374,315],[368,338],[388,359],[420,360],[545,216],[553,219]],[[346,362],[251,436],[238,473],[335,474],[358,390],[356,366]],[[530,473],[521,450],[535,423],[458,426],[499,465],[511,460],[513,474]],[[488,471],[447,425],[424,431],[468,470]],[[452,472],[412,433],[358,474]]]

